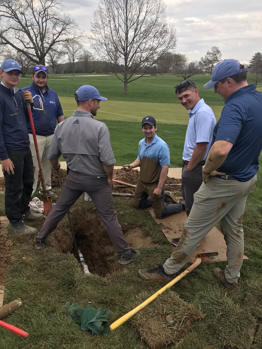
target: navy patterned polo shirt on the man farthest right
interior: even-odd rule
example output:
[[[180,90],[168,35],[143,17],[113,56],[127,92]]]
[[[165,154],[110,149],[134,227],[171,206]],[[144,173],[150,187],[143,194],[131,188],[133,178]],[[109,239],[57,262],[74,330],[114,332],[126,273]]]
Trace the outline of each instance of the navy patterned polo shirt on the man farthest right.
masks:
[[[212,144],[224,140],[233,143],[217,171],[246,182],[259,170],[262,149],[262,94],[251,84],[230,95],[213,131]]]

